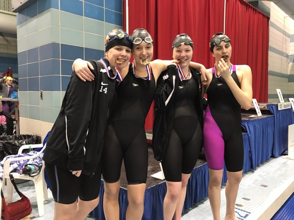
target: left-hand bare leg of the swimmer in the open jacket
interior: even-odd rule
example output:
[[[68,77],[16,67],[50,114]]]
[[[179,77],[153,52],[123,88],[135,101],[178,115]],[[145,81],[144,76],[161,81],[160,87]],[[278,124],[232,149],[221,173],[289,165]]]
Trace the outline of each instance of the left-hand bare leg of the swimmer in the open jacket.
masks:
[[[172,220],[181,196],[182,182],[165,181],[165,183],[167,191],[163,201],[163,218]]]

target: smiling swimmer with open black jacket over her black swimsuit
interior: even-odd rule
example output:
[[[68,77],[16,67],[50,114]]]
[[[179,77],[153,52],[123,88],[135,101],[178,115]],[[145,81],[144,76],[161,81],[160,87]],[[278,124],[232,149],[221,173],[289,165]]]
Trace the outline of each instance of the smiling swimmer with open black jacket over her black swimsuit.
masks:
[[[172,45],[177,64],[169,65],[157,82],[152,146],[166,180],[164,220],[181,218],[188,179],[202,149],[200,73],[189,67],[193,47],[187,34],[177,35]]]

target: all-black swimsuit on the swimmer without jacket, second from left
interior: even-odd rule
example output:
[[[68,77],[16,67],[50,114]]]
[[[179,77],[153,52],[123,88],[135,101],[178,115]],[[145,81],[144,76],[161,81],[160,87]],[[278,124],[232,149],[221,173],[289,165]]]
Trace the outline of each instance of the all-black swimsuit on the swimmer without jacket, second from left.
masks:
[[[103,150],[103,178],[115,183],[120,178],[122,159],[128,184],[146,183],[148,145],[145,118],[155,97],[156,84],[137,78],[130,64],[129,72],[117,85],[117,97],[107,129]]]

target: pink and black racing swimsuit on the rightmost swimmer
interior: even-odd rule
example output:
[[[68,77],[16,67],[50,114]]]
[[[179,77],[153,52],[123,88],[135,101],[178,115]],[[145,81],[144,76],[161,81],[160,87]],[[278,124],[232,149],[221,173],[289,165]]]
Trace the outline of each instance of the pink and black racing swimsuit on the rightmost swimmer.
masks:
[[[231,75],[240,87],[236,65]],[[208,168],[237,172],[243,169],[244,147],[241,129],[241,108],[222,77],[213,68],[212,82],[207,89],[208,106],[204,115],[203,149]]]

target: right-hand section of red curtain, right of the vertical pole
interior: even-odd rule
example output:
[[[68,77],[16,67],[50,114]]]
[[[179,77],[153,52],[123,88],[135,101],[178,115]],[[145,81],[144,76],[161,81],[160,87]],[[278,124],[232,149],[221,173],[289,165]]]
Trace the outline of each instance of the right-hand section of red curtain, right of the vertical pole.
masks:
[[[225,33],[232,40],[232,63],[252,71],[253,98],[268,98],[269,17],[243,0],[226,0]]]

